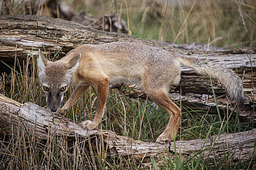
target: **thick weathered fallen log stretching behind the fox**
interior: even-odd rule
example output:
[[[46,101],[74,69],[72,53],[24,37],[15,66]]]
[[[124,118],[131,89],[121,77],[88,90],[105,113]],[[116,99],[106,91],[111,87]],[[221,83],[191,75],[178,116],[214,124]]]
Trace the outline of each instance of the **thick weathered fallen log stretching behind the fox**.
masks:
[[[55,56],[55,53],[60,50],[55,56],[56,59],[59,59],[80,44],[139,41],[148,45],[160,46],[155,41],[139,40],[121,33],[98,31],[75,22],[45,16],[3,15],[0,16],[0,27],[0,60],[10,65],[14,65],[15,57],[20,60],[26,60],[32,54],[37,56],[39,48],[45,48],[50,57]],[[166,43],[162,45],[162,48],[173,50],[177,54],[188,57],[207,57],[214,62],[222,63],[235,70],[243,78],[244,93],[246,95],[245,105],[240,107],[240,115],[246,118],[256,118],[254,109],[256,76],[253,76],[256,74],[255,47],[245,51],[221,49],[220,52],[218,49],[213,49],[214,51],[211,52],[203,52],[184,50],[184,46],[182,47],[183,49],[177,49],[170,48],[170,45]],[[193,47],[193,49],[201,48]],[[2,68],[5,67],[1,62],[0,66]],[[187,108],[197,109],[199,106],[203,111],[212,109],[212,113],[216,113],[216,109],[212,107],[215,103],[209,78],[197,75],[195,71],[187,67],[183,67],[181,71],[180,84],[172,88],[171,92],[173,94],[171,97],[175,101],[179,101],[181,92],[181,104],[187,105]],[[217,102],[220,108],[226,109],[228,100],[225,97],[224,88],[214,79],[213,88],[217,96],[224,96],[218,97]],[[135,90],[135,93],[143,94],[143,92],[137,90]],[[230,111],[232,109],[230,107]],[[223,110],[221,109],[221,111]]]

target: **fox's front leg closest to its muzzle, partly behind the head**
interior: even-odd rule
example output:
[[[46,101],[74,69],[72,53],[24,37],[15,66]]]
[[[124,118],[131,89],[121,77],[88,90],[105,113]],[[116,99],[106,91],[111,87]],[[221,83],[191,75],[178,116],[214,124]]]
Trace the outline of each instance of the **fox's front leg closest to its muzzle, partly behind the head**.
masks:
[[[62,108],[60,108],[57,113],[65,115],[71,109],[71,107],[76,103],[76,101],[84,94],[84,92],[90,87],[88,86],[77,86],[75,91],[73,91],[71,97],[69,97],[68,101],[64,104]]]

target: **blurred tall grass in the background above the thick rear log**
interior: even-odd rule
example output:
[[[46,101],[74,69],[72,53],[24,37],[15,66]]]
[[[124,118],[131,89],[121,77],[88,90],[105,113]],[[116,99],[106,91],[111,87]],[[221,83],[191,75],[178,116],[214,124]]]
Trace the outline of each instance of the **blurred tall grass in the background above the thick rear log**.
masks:
[[[61,7],[64,1],[5,0],[1,1],[1,14],[48,15],[38,11],[40,6],[48,10],[53,2]],[[114,11],[126,21],[131,35],[140,39],[210,43],[226,49],[256,45],[255,0],[66,0],[65,8],[75,15],[83,10],[89,16]]]

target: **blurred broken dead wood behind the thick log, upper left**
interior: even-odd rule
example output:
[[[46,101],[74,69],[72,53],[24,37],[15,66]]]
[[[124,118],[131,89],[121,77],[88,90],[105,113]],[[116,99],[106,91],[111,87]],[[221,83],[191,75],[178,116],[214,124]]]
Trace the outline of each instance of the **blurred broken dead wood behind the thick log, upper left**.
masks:
[[[121,19],[115,11],[109,15],[90,16],[82,9],[78,15],[77,12],[73,11],[63,0],[47,0],[43,2],[40,0],[23,1],[19,5],[22,6],[22,9],[16,9],[16,13],[18,14],[61,18],[72,20],[76,23],[102,31],[128,33],[125,20]],[[12,5],[9,1],[3,0],[1,6],[4,15],[11,15]]]

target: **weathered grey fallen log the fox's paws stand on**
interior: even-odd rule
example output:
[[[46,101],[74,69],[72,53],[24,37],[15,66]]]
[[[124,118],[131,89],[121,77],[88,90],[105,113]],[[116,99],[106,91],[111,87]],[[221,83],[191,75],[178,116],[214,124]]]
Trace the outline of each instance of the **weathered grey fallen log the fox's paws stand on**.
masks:
[[[0,128],[4,128],[1,132],[5,130],[6,133],[11,133],[9,131],[11,126],[14,128],[26,127],[28,131],[34,131],[35,136],[40,139],[47,139],[48,133],[55,133],[59,136],[65,135],[71,140],[75,140],[75,135],[80,138],[97,136],[97,138],[103,139],[108,156],[129,156],[132,159],[142,159],[148,156],[158,158],[160,153],[166,154],[166,146],[164,145],[135,141],[109,130],[88,131],[66,117],[53,115],[48,109],[32,103],[20,104],[0,95]],[[221,134],[207,140],[176,141],[175,144],[171,142],[167,148],[172,157],[177,151],[176,154],[180,153],[181,157],[185,159],[204,150],[205,162],[209,164],[213,164],[213,156],[218,163],[226,155],[230,155],[229,159],[234,162],[250,162],[256,158],[255,141],[256,129],[253,129],[236,134]]]

